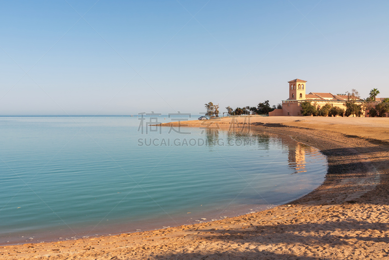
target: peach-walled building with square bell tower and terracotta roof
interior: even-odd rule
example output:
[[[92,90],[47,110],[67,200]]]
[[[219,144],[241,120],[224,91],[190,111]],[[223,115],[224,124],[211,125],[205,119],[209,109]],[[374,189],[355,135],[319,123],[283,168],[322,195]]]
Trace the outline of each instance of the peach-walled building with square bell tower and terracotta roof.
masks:
[[[269,116],[301,116],[301,103],[311,101],[315,106],[322,107],[330,104],[332,107],[339,107],[346,110],[344,103],[347,95],[336,95],[333,93],[312,93],[306,94],[306,80],[294,79],[289,83],[289,98],[283,100],[283,108],[269,112]],[[363,99],[354,97],[357,103],[364,102]],[[364,112],[364,115],[366,112]]]

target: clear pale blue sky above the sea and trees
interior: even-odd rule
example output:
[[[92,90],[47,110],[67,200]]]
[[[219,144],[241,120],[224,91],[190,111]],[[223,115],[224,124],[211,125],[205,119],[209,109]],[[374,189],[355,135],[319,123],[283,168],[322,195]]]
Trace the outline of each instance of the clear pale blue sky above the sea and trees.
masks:
[[[1,1],[0,114],[198,114],[389,97],[389,1]]]

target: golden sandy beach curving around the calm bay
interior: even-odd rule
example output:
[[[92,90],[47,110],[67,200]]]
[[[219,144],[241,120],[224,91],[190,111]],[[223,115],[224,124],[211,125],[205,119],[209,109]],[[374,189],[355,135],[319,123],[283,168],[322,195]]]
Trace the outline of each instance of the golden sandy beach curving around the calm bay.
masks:
[[[230,127],[231,118],[218,123]],[[239,118],[232,125],[242,123]],[[389,118],[255,117],[246,123],[251,131],[287,134],[320,149],[329,166],[323,185],[262,212],[118,236],[1,246],[0,259],[389,259]]]

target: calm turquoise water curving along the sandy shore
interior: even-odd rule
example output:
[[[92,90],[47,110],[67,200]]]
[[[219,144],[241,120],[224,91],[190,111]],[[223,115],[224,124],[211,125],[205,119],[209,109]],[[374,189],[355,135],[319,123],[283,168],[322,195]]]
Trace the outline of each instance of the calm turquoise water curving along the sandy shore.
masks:
[[[168,127],[142,134],[140,123],[0,117],[0,243],[245,214],[310,192],[327,171],[317,149],[286,136]]]

